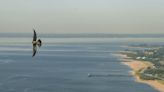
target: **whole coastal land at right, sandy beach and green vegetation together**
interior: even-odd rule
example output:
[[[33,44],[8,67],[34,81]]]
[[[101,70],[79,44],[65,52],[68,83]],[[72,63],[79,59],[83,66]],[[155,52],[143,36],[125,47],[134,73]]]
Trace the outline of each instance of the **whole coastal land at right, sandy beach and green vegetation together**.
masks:
[[[123,64],[133,69],[132,73],[138,82],[164,92],[164,46],[140,44],[130,47],[140,49],[120,52]]]

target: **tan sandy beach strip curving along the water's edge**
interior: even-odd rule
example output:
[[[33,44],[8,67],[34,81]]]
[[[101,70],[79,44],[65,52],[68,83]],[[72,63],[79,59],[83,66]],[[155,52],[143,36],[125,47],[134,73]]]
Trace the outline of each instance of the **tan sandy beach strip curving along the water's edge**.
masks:
[[[137,71],[152,66],[150,62],[133,60],[126,54],[121,53],[114,55],[121,58],[122,64],[127,65],[132,69],[132,71],[130,71],[130,74],[134,76],[136,82],[148,84],[159,92],[164,92],[164,84],[160,83],[157,80],[142,80],[139,75],[136,74]]]

